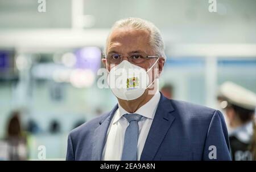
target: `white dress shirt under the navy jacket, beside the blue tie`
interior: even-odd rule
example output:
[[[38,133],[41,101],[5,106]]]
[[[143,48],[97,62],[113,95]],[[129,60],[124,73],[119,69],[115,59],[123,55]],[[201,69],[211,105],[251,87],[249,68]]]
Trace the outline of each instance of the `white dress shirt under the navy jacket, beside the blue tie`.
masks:
[[[160,93],[157,92],[150,101],[135,111],[136,114],[142,115],[141,120],[138,122],[139,138],[137,160],[141,158],[141,153],[147,139],[148,131],[150,130],[154,119],[159,100]],[[129,126],[129,122],[125,117],[123,117],[124,114],[129,113],[118,104],[118,109],[115,111],[114,117],[112,118],[108,128],[106,143],[102,152],[102,160],[119,161],[122,158],[125,131]]]

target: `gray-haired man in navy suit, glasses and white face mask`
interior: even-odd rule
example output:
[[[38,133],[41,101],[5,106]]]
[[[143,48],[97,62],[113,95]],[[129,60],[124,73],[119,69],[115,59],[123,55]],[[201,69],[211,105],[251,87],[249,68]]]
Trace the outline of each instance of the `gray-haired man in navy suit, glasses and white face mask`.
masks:
[[[149,21],[117,21],[102,59],[118,104],[68,136],[67,160],[230,160],[220,111],[170,100],[158,89],[166,55]]]

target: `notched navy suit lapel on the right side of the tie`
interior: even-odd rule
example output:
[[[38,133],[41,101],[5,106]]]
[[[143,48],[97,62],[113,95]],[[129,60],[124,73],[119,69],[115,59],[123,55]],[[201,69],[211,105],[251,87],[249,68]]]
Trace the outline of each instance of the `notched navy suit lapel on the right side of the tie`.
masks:
[[[141,154],[141,161],[154,160],[155,154],[158,151],[164,136],[166,136],[172,122],[174,122],[175,117],[171,113],[172,111],[174,111],[174,108],[171,105],[171,101],[161,93],[158,108],[156,109],[155,117]]]

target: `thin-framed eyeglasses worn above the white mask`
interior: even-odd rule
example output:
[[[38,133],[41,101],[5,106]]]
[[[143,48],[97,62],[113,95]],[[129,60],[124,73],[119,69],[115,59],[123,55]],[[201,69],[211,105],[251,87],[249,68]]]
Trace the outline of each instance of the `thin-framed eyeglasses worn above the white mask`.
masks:
[[[106,58],[108,63],[114,64],[114,65],[118,65],[119,63],[122,62],[123,57],[127,57],[127,56],[122,56],[120,54],[108,54],[108,55],[102,54],[102,55],[103,55],[103,58]],[[128,61],[130,63],[133,63],[134,65],[140,65],[151,58],[159,58],[159,57],[152,56],[152,55],[143,56],[141,54],[133,54],[127,57]]]

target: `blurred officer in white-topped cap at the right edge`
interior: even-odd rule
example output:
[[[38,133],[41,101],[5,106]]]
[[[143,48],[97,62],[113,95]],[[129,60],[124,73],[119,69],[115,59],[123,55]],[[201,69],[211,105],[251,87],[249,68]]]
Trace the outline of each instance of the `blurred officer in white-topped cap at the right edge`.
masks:
[[[219,89],[218,102],[226,114],[232,159],[256,160],[256,94],[228,81]]]

